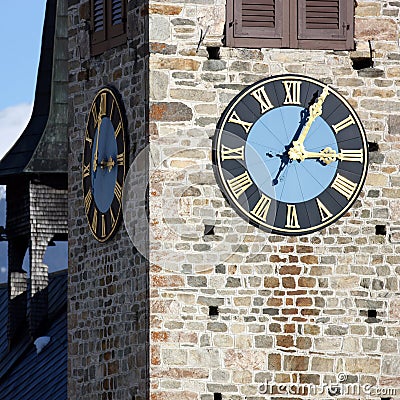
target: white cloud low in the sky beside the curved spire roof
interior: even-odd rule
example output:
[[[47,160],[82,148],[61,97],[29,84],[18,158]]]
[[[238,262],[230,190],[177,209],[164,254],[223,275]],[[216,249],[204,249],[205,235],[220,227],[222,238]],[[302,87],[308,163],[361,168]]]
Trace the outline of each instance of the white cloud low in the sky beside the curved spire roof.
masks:
[[[22,103],[0,110],[0,159],[23,132],[32,113],[32,104]]]

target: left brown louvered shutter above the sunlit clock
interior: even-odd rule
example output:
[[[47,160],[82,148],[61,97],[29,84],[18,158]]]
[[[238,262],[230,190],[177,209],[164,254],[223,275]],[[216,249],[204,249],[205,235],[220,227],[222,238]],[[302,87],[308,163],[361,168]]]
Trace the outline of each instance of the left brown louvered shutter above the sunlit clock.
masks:
[[[228,0],[227,45],[287,47],[289,0]]]

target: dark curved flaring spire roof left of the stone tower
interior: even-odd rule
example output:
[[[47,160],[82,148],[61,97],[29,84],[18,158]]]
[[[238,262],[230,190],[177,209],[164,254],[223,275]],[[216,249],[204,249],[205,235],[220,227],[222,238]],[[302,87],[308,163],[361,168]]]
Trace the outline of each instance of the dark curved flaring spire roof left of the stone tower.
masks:
[[[0,184],[20,174],[67,172],[67,13],[67,0],[47,0],[32,115],[0,161]]]

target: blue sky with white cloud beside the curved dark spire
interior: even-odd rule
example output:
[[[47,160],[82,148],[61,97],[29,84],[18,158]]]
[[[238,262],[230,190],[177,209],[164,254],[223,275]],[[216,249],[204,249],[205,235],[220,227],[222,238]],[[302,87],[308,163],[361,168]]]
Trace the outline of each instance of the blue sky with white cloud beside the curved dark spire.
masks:
[[[2,1],[0,158],[29,121],[35,94],[45,0]]]

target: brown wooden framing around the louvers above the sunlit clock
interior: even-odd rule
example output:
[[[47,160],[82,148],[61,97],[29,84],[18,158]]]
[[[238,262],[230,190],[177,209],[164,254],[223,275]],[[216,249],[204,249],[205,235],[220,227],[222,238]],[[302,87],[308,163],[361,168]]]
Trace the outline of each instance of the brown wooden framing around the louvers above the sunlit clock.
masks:
[[[243,0],[227,0],[225,32],[228,47],[354,49],[353,1],[339,0],[338,24],[339,30],[343,32],[333,29],[307,29],[306,0],[275,0],[275,28],[258,29],[256,32],[255,29],[243,28],[241,24],[242,2]],[[325,2],[329,3],[329,0]]]

